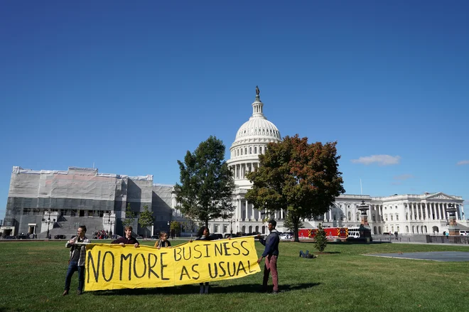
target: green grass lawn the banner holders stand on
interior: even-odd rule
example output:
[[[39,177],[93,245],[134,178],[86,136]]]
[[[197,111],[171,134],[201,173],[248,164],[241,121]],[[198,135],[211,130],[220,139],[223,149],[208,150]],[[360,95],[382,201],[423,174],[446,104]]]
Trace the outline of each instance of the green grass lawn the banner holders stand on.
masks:
[[[144,242],[153,245],[154,242]],[[173,246],[178,242],[173,242]],[[256,243],[258,254],[263,246]],[[381,252],[465,251],[467,246],[330,244],[316,259],[298,257],[313,244],[281,242],[278,295],[259,294],[262,273],[199,286],[93,291],[61,296],[65,242],[0,243],[0,311],[468,311],[468,262],[365,257]]]

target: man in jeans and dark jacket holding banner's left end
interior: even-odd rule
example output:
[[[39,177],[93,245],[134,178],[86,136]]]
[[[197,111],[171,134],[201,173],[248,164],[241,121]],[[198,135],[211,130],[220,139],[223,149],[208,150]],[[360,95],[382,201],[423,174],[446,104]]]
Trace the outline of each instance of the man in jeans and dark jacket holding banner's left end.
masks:
[[[70,281],[73,273],[78,271],[78,290],[77,294],[81,295],[83,286],[85,286],[85,256],[86,246],[79,243],[89,243],[90,240],[85,236],[86,227],[80,225],[77,230],[77,236],[65,243],[66,248],[70,248],[70,259],[68,260],[67,276],[65,277],[65,289],[62,296],[68,295],[70,291]]]

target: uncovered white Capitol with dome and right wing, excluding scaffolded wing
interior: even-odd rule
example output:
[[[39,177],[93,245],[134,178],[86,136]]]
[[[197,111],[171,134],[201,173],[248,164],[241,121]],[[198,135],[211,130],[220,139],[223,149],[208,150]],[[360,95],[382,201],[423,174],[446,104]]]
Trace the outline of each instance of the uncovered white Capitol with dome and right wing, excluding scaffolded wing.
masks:
[[[228,166],[234,173],[233,192],[234,215],[230,220],[210,222],[212,233],[262,232],[267,231],[262,211],[255,209],[244,195],[252,187],[246,174],[259,167],[259,154],[264,154],[269,142],[281,140],[279,129],[264,116],[264,104],[259,93],[252,103],[252,116],[242,124],[230,148]],[[399,234],[443,233],[448,231],[446,209],[452,203],[457,209],[457,221],[467,226],[463,210],[463,198],[444,193],[424,193],[422,195],[392,195],[371,197],[370,195],[340,195],[328,213],[315,220],[304,220],[304,227],[317,227],[318,223],[328,227],[357,227],[360,225],[358,205],[365,200],[370,205],[368,222],[375,235],[384,232]],[[284,229],[284,211],[275,213],[277,229]]]

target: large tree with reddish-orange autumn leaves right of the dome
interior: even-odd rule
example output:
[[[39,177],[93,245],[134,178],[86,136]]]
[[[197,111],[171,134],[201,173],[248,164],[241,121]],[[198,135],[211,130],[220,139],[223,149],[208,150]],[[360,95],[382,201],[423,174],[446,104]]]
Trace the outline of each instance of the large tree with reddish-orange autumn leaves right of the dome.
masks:
[[[269,143],[265,154],[259,155],[257,171],[247,175],[253,186],[245,198],[267,214],[286,210],[299,242],[301,220],[323,215],[335,197],[345,193],[336,145],[308,144],[308,138],[298,134]]]

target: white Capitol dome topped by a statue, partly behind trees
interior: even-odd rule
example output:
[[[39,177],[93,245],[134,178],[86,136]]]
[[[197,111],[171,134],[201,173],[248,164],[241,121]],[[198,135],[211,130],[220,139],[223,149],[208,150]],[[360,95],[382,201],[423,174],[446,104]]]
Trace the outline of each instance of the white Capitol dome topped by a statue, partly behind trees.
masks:
[[[279,129],[264,116],[264,103],[259,97],[258,87],[256,94],[252,116],[239,127],[227,161],[234,173],[234,183],[239,187],[250,187],[246,175],[259,167],[259,154],[264,154],[267,144],[281,141]]]

